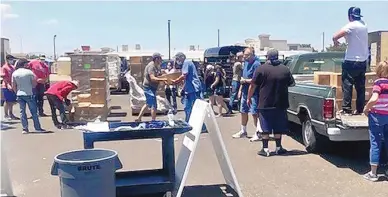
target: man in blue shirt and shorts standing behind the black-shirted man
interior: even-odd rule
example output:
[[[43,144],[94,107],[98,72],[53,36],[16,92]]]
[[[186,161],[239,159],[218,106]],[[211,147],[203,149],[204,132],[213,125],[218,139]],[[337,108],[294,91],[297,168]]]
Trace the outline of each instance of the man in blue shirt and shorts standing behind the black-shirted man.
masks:
[[[252,114],[254,125],[258,128],[260,127],[260,124],[258,125],[258,99],[259,99],[259,92],[258,90],[255,91],[254,95],[251,98],[251,105],[248,106],[247,104],[247,98],[248,98],[248,90],[249,85],[251,84],[252,78],[254,76],[254,73],[256,69],[260,66],[260,61],[253,53],[253,50],[251,48],[246,48],[244,50],[244,69],[242,78],[240,80],[241,86],[239,91],[239,98],[241,99],[241,130],[233,135],[233,138],[242,138],[247,137],[247,123],[248,123],[248,113]],[[257,129],[260,130],[260,129]],[[255,134],[252,136],[250,141],[257,141],[260,139],[260,133],[255,132]]]

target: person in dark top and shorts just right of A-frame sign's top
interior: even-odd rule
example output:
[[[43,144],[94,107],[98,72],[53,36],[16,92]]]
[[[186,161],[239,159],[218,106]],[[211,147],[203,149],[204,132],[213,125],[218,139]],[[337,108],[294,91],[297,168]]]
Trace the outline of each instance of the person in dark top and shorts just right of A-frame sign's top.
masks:
[[[210,88],[213,90],[215,95],[215,100],[218,106],[218,117],[222,116],[222,108],[228,112],[229,108],[224,101],[224,93],[225,93],[225,83],[224,83],[224,72],[220,65],[216,65],[215,67],[215,75],[214,82],[211,84]]]

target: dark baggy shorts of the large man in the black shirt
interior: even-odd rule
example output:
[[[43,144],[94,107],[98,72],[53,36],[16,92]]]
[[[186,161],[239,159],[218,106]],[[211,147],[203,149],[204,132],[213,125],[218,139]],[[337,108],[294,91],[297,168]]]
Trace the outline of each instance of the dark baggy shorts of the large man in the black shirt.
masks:
[[[286,109],[260,109],[259,120],[264,134],[285,134],[289,131]]]

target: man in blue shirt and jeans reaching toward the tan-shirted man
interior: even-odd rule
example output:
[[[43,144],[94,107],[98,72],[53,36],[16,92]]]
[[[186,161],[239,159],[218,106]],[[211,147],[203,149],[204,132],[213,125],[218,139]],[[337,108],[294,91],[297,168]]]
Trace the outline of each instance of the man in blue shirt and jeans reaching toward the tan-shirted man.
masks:
[[[174,84],[180,83],[184,80],[184,110],[185,121],[189,122],[193,105],[197,99],[201,98],[201,80],[199,79],[197,68],[190,60],[186,60],[186,55],[179,52],[175,55],[175,63],[177,66],[182,66],[182,75],[172,82]]]

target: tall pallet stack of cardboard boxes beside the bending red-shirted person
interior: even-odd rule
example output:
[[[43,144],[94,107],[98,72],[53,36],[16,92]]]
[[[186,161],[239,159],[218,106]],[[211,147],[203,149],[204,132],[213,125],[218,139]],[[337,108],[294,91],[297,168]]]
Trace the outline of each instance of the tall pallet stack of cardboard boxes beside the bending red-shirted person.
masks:
[[[79,87],[72,92],[75,121],[106,120],[110,112],[110,90],[106,55],[71,56],[72,79]]]

